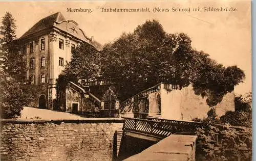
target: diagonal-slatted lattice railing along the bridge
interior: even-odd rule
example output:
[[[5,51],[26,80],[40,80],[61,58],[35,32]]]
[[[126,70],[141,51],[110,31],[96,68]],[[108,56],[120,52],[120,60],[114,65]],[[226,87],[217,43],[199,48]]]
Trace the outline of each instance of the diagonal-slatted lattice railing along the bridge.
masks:
[[[165,138],[174,133],[192,133],[197,127],[206,125],[204,123],[176,120],[124,119],[124,131],[138,132],[159,138]]]

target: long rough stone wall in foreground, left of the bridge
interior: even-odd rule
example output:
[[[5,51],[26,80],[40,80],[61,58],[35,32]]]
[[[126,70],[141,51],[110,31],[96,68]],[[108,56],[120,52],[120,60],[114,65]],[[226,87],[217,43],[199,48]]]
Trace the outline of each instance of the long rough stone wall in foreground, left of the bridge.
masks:
[[[1,160],[112,160],[123,120],[2,120],[1,126]]]

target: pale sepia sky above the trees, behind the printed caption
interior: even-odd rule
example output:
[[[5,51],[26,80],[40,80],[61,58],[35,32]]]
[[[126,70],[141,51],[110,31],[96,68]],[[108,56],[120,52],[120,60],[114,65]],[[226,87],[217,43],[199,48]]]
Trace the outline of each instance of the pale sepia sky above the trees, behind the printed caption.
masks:
[[[204,12],[204,8],[229,8],[233,12]],[[92,12],[67,12],[91,9]],[[101,12],[101,8],[149,8],[151,12]],[[154,12],[154,8],[170,12]],[[172,12],[172,9],[190,12]],[[201,11],[193,11],[200,8]],[[101,44],[113,42],[123,32],[133,32],[146,20],[158,20],[167,33],[185,33],[192,46],[203,50],[224,66],[237,65],[246,75],[234,93],[251,91],[251,2],[250,1],[73,1],[73,2],[0,2],[0,16],[12,13],[17,37],[22,36],[39,19],[61,12],[76,21],[88,36]]]

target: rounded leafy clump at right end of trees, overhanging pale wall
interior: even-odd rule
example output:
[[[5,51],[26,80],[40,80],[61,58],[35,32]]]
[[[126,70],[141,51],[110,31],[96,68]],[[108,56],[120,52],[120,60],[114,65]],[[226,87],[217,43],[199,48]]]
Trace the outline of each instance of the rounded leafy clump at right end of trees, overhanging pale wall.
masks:
[[[221,64],[202,64],[196,76],[191,81],[196,94],[207,96],[206,102],[211,106],[217,105],[234,86],[243,82],[244,72],[237,66],[225,68]]]

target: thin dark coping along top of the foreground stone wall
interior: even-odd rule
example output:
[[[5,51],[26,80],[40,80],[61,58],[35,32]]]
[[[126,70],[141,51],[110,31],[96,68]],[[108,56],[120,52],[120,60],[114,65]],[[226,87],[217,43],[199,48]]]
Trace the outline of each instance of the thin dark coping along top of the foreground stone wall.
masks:
[[[15,120],[15,119],[0,119],[1,124],[44,124],[44,123],[124,123],[125,119],[120,118],[86,118],[86,119],[58,119],[58,120]]]

